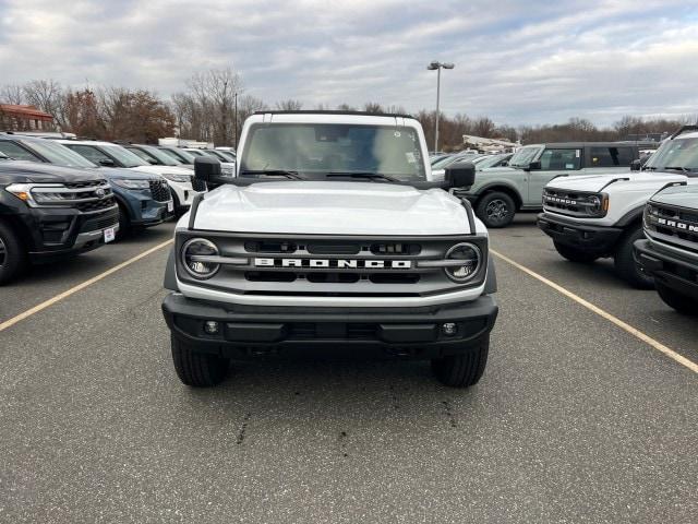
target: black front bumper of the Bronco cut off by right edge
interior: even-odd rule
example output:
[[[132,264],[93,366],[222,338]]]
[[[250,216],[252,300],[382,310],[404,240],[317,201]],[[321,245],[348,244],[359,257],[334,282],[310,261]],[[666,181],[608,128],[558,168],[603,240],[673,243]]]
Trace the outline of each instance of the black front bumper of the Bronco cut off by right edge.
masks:
[[[698,260],[658,250],[650,240],[634,245],[635,261],[645,273],[676,293],[698,300]]]

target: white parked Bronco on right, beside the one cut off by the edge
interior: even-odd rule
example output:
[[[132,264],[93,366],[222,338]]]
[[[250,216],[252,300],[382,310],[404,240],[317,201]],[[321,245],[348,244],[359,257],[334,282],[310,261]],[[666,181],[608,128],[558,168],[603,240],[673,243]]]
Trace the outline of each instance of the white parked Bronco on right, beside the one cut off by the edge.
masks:
[[[642,211],[649,198],[666,183],[698,176],[696,129],[682,128],[665,140],[642,170],[552,180],[538,225],[557,252],[583,263],[613,258],[619,276],[636,287],[652,287],[651,276],[635,263],[633,245],[643,238]]]

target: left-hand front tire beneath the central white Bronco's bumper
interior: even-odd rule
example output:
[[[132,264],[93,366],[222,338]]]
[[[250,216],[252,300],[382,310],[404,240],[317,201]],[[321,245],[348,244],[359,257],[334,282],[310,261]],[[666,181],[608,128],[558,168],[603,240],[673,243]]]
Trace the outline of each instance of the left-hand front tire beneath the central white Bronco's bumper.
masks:
[[[228,374],[230,360],[195,352],[192,346],[171,335],[172,361],[179,380],[186,385],[208,388],[219,384]]]

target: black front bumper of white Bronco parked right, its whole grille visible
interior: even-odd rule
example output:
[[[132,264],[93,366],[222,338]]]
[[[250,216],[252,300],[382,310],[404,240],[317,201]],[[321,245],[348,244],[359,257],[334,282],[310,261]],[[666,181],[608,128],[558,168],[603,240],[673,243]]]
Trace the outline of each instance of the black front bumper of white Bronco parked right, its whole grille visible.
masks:
[[[610,254],[623,235],[619,227],[599,227],[565,221],[550,213],[538,215],[538,227],[553,240],[590,253]]]

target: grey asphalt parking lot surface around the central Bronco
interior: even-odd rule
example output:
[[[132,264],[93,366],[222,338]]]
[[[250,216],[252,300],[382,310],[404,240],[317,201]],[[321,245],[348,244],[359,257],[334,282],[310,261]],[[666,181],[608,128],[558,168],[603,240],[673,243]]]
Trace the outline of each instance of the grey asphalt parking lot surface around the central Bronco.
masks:
[[[496,259],[500,318],[470,390],[425,362],[333,359],[192,390],[159,310],[172,227],[0,289],[0,521],[698,522],[698,374],[520,267]],[[491,234],[698,362],[695,319],[607,262],[564,261],[534,215]]]

